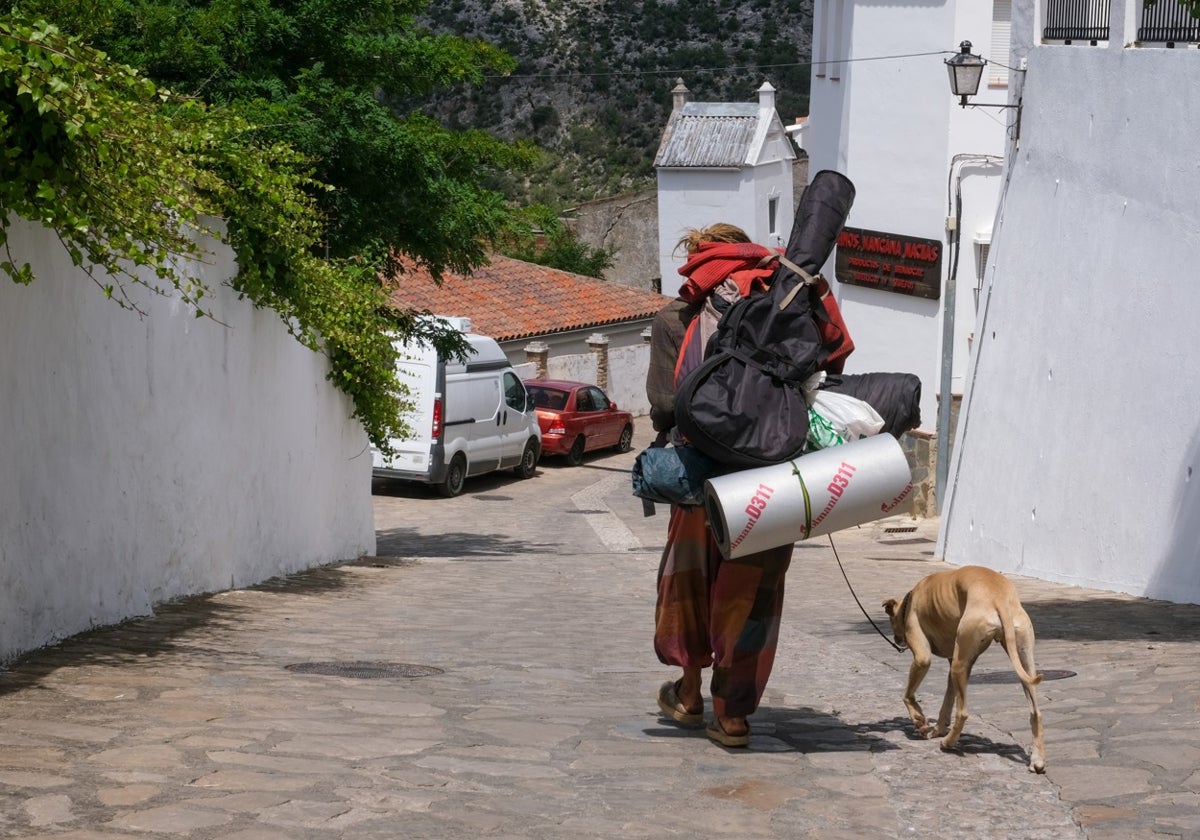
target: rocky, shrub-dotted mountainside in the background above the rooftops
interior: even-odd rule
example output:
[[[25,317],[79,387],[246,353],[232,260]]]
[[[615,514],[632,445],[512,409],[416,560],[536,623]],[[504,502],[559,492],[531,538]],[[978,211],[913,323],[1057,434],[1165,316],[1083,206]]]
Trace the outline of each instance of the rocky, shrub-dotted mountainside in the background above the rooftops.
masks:
[[[518,61],[424,104],[448,126],[544,149],[533,175],[497,182],[522,202],[652,185],[680,78],[700,102],[755,102],[766,80],[785,124],[808,113],[812,0],[432,0],[425,23]]]

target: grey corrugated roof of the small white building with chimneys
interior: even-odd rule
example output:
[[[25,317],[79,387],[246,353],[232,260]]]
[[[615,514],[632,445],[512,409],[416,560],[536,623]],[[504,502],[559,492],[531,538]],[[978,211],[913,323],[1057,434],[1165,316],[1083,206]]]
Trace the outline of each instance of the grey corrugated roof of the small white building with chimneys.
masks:
[[[757,128],[757,104],[688,102],[673,114],[654,166],[744,166]]]

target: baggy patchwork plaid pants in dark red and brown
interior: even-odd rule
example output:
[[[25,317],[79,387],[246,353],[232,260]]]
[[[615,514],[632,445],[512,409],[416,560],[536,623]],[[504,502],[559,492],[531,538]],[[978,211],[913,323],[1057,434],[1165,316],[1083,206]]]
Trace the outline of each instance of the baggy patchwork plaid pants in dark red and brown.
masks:
[[[722,559],[702,506],[671,508],[659,565],[654,653],[664,665],[713,666],[713,708],[758,708],[775,662],[792,545]]]

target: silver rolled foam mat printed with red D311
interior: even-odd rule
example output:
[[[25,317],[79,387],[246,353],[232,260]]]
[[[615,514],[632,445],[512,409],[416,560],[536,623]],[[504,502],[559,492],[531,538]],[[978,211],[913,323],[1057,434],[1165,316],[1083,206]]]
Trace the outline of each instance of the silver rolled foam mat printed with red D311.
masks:
[[[900,442],[876,434],[709,479],[704,506],[721,553],[736,558],[883,518],[911,494]]]

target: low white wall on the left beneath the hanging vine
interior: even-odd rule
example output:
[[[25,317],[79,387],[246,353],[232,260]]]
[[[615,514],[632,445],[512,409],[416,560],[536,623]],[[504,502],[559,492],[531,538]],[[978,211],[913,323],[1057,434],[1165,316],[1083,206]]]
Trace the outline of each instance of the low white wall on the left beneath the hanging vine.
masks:
[[[0,661],[374,551],[366,436],[274,312],[216,288],[217,323],[134,289],[139,318],[48,230],[10,241],[37,280],[0,280]]]

